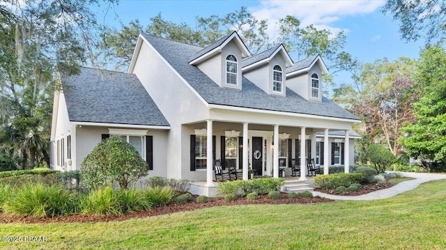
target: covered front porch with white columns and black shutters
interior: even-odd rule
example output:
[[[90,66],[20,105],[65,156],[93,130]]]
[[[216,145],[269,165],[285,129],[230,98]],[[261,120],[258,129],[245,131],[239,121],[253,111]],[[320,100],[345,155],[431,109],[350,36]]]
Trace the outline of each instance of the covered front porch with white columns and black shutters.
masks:
[[[307,159],[314,159],[323,174],[328,174],[328,166],[336,162],[344,165],[344,171],[348,173],[351,162],[350,130],[342,130],[344,136],[335,139],[339,143],[333,142],[334,139],[331,144],[328,142],[330,130],[351,128],[351,123],[349,126],[345,123],[339,126],[334,122],[331,127],[321,127],[323,124],[316,126],[313,123],[312,127],[307,127],[287,123],[271,125],[208,119],[185,125],[191,139],[190,170],[194,176],[191,179],[204,183],[205,187],[215,187],[215,159],[220,160],[223,168],[241,170],[243,180],[248,179],[250,172],[278,178],[281,177],[279,173],[282,173],[282,169],[285,176],[290,177],[292,164],[297,164],[300,166],[300,175],[296,178],[305,181],[309,178]],[[316,136],[316,133],[319,135]],[[333,143],[337,143],[337,148],[331,150],[330,159],[329,146]]]

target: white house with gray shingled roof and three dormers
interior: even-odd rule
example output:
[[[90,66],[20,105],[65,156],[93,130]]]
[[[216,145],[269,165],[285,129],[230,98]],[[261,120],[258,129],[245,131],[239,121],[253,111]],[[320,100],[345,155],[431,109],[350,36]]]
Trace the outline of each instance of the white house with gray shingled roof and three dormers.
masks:
[[[53,169],[81,169],[101,139],[121,136],[149,175],[206,181],[213,160],[259,175],[291,159],[353,164],[360,119],[323,97],[321,56],[293,63],[283,45],[251,55],[233,32],[208,47],[139,35],[127,73],[81,68],[54,96]],[[305,157],[300,157],[305,155]]]

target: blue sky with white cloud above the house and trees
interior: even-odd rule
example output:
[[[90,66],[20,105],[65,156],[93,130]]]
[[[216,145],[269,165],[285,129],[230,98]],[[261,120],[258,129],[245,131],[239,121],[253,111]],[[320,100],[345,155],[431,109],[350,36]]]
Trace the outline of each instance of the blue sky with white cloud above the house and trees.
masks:
[[[98,10],[98,19],[119,26],[139,19],[144,26],[149,19],[161,13],[171,22],[195,25],[195,17],[223,16],[246,6],[258,19],[268,19],[270,27],[285,15],[294,15],[304,25],[314,24],[321,29],[344,31],[345,50],[364,63],[387,57],[394,61],[400,56],[417,58],[422,42],[405,42],[399,34],[399,23],[381,13],[385,1],[142,1],[121,0],[105,15]],[[116,13],[116,15],[115,15]],[[274,36],[274,29],[270,36]],[[293,58],[295,60],[296,58]],[[297,60],[295,60],[297,61]],[[338,81],[349,81],[339,77]]]

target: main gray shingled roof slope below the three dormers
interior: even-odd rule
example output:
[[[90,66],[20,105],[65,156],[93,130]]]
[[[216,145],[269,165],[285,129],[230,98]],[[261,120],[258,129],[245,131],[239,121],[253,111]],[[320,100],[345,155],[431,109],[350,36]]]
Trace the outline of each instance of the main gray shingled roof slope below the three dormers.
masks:
[[[322,97],[322,102],[310,102],[289,88],[286,88],[286,97],[268,95],[245,77],[241,91],[220,88],[199,68],[188,63],[190,56],[199,52],[201,47],[145,34],[143,36],[209,104],[360,120],[325,97]]]

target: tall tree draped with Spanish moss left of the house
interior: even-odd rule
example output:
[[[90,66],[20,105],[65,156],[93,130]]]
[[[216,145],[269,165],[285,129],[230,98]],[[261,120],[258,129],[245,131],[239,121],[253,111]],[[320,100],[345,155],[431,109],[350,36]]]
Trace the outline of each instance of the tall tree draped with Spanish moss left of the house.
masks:
[[[49,162],[56,74],[77,72],[93,51],[99,0],[23,0],[0,6],[0,146],[12,146],[22,168]],[[114,0],[109,0],[114,2]]]

